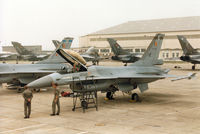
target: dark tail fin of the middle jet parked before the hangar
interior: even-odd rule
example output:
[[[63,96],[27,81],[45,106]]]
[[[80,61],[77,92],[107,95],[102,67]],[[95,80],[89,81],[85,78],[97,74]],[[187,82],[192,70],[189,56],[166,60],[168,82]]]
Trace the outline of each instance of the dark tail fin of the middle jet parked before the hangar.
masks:
[[[111,47],[113,53],[115,54],[115,56],[128,54],[128,52],[125,51],[125,50],[117,43],[116,40],[114,40],[114,39],[112,39],[112,38],[108,38],[107,41],[108,41],[108,43],[110,44],[110,47]]]

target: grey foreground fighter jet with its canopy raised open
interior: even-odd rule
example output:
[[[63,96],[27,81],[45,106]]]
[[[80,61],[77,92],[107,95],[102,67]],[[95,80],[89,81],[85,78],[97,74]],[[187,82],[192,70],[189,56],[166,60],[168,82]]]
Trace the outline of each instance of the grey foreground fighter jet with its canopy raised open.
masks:
[[[79,62],[78,72],[68,74],[53,73],[29,83],[27,87],[50,87],[52,83],[70,85],[74,93],[79,92],[81,94],[81,106],[83,109],[87,109],[89,104],[87,94],[92,91],[107,92],[106,97],[112,99],[113,93],[116,91],[131,93],[132,90],[138,87],[141,92],[144,92],[148,89],[148,83],[167,77],[175,77],[177,80],[193,77],[194,74],[184,77],[169,75],[169,69],[161,69],[158,66],[154,66],[153,63],[158,59],[163,38],[163,34],[157,34],[142,58],[128,66],[86,67]],[[57,53],[72,65],[78,62],[77,58],[74,58],[64,49],[57,50]],[[138,101],[139,96],[133,93],[131,98]]]

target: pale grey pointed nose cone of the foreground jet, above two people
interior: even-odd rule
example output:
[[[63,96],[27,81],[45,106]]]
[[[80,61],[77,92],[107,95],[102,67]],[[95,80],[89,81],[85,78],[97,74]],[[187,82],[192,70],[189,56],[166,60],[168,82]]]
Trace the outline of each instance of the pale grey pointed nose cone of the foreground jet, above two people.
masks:
[[[27,85],[28,88],[42,88],[42,87],[51,87],[53,80],[50,76],[44,76],[40,79],[37,79]]]

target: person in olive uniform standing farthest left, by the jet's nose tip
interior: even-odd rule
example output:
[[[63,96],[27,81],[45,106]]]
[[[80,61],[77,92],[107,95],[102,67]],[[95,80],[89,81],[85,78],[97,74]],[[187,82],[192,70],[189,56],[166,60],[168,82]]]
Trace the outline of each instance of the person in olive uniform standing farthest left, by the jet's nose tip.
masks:
[[[23,97],[24,97],[24,119],[26,119],[29,118],[31,114],[31,100],[33,98],[32,91],[30,89],[25,88],[23,92]]]

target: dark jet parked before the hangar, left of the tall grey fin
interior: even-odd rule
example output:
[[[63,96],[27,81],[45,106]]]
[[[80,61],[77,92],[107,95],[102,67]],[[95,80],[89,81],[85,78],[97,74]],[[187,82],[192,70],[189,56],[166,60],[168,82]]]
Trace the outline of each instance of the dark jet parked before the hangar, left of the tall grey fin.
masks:
[[[108,38],[107,41],[110,44],[110,47],[115,55],[111,57],[112,60],[122,61],[123,63],[126,63],[125,66],[127,65],[127,63],[133,63],[133,62],[138,61],[142,56],[142,53],[130,53],[124,50],[117,43],[117,41],[112,38]],[[162,65],[162,64],[163,64],[163,60],[161,59],[158,59],[157,61],[155,61],[155,65]]]

